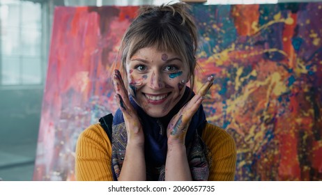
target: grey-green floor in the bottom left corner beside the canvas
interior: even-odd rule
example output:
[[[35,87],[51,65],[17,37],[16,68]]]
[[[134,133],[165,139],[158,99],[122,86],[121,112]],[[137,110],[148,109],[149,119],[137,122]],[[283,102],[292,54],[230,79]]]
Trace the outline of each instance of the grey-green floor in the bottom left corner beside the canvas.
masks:
[[[3,181],[31,181],[36,143],[0,146],[0,178]]]

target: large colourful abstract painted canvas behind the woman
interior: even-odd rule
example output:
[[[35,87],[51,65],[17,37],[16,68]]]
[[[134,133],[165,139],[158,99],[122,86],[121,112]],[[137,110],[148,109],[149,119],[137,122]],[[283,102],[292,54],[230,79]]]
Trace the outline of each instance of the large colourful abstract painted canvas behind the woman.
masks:
[[[56,8],[34,180],[75,180],[75,143],[116,111],[110,72],[137,6]],[[197,87],[237,147],[235,180],[322,180],[322,3],[192,6]]]

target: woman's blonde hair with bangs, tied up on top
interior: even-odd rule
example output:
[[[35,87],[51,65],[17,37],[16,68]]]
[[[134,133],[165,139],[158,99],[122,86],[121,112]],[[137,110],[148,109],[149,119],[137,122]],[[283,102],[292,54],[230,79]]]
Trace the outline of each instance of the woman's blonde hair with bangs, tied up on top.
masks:
[[[197,27],[186,3],[142,6],[139,15],[123,36],[119,50],[121,72],[128,83],[126,64],[141,48],[155,47],[160,52],[173,52],[183,58],[190,70],[190,87],[194,86],[194,69],[197,65]]]

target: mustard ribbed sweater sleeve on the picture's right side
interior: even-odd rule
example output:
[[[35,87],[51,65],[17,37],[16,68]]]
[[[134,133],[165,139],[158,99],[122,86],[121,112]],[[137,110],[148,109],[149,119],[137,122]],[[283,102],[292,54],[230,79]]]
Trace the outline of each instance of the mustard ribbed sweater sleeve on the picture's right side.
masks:
[[[236,170],[236,144],[226,131],[207,124],[201,136],[210,150],[210,181],[234,180]]]

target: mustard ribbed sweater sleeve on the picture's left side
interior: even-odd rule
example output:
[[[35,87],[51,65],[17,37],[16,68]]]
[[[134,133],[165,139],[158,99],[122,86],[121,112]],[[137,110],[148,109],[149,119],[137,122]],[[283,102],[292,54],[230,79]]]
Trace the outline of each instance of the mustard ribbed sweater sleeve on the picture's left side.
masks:
[[[112,145],[99,124],[79,134],[75,151],[75,174],[79,181],[113,180]]]

